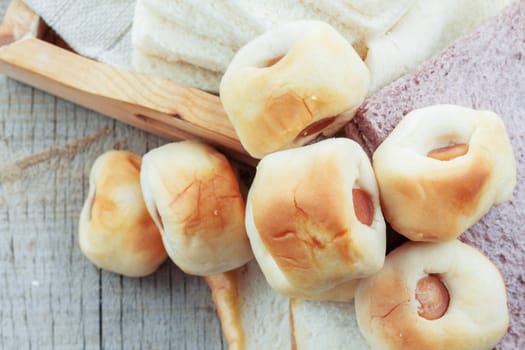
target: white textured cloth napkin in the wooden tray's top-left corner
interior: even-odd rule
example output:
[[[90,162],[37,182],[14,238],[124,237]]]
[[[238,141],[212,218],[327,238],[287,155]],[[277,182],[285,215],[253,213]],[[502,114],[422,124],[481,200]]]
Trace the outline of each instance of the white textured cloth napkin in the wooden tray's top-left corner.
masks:
[[[131,67],[135,0],[25,0],[78,53]]]

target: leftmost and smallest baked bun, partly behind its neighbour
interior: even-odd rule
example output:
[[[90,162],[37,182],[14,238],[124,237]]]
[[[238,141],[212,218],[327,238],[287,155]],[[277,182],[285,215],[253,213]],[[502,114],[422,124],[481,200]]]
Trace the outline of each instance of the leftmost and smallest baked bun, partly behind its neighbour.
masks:
[[[98,267],[130,277],[154,272],[167,257],[142,197],[140,163],[140,156],[125,151],[99,156],[79,221],[82,253]]]

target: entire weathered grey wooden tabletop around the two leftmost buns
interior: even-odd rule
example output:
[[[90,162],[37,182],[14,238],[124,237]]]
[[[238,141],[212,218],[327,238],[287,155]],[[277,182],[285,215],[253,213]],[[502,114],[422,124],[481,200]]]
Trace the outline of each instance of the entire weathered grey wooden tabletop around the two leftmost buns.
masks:
[[[0,75],[0,349],[227,348],[203,279],[122,277],[78,247],[95,158],[163,143]]]

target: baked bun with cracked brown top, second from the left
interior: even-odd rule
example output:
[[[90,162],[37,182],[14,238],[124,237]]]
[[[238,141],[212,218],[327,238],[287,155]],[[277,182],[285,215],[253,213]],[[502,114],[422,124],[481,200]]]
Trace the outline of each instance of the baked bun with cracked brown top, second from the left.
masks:
[[[141,175],[146,206],[184,272],[211,275],[252,259],[244,200],[226,157],[196,141],[170,143],[144,156]]]

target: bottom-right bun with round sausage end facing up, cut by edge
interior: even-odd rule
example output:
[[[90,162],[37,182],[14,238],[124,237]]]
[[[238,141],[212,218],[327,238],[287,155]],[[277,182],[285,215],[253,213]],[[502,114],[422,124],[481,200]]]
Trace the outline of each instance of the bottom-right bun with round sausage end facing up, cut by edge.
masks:
[[[492,349],[509,324],[500,272],[458,240],[395,249],[360,282],[355,306],[373,349]]]

